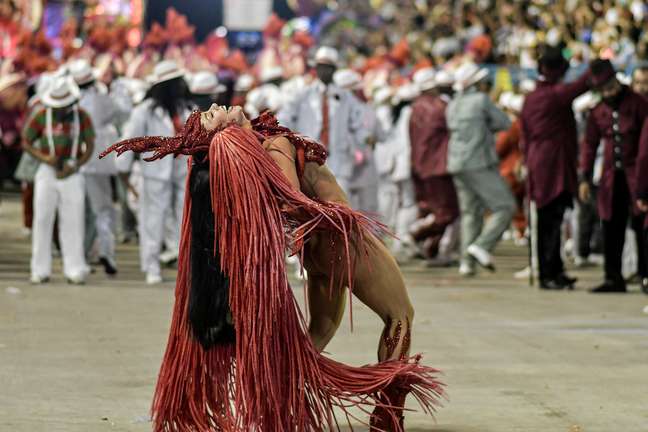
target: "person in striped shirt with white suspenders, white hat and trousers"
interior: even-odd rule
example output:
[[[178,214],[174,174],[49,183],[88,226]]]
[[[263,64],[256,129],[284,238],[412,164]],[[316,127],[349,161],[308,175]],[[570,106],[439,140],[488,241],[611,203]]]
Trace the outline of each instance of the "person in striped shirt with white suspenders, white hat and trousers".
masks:
[[[52,230],[59,216],[63,273],[80,284],[87,276],[83,250],[85,186],[79,173],[93,154],[94,129],[79,107],[79,88],[68,76],[56,78],[43,93],[40,108],[23,133],[25,151],[41,164],[34,179],[34,229],[31,281],[43,283],[52,273]]]

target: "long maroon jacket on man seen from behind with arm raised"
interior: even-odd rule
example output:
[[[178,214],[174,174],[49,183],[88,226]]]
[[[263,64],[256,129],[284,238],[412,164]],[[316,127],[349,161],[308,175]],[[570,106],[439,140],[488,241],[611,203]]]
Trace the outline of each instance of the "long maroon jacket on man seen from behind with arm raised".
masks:
[[[529,196],[542,208],[577,188],[578,133],[572,102],[589,89],[589,73],[572,83],[538,81],[520,115]]]

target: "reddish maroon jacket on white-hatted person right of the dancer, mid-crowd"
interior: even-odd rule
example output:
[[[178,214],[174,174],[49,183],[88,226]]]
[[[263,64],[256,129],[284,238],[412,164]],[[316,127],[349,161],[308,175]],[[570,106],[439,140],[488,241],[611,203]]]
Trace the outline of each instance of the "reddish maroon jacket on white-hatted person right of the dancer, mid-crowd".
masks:
[[[448,125],[447,103],[438,96],[421,95],[412,104],[410,145],[412,171],[420,179],[447,175]]]

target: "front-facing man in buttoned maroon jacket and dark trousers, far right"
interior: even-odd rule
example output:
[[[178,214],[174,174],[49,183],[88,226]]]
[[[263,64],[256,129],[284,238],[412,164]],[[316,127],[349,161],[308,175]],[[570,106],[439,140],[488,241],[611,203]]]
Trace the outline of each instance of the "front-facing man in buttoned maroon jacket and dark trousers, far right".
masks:
[[[601,94],[599,103],[587,120],[581,152],[580,198],[590,198],[590,181],[596,151],[603,142],[603,173],[599,184],[598,209],[603,221],[605,281],[591,290],[594,293],[626,292],[621,274],[621,257],[628,219],[641,230],[643,215],[634,205],[637,198],[637,156],[648,146],[648,101],[622,85],[609,60],[595,60],[591,66],[592,85]],[[644,172],[644,177],[646,176]],[[641,240],[641,236],[638,236]],[[643,242],[641,242],[643,243]],[[639,244],[638,271],[648,277],[644,247]]]

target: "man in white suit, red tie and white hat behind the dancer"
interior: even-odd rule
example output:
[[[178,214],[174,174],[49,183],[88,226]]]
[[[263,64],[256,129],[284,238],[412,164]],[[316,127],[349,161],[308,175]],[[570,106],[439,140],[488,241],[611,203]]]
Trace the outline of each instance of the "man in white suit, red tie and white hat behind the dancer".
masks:
[[[337,50],[321,47],[315,54],[317,79],[278,113],[286,127],[316,139],[329,153],[328,165],[349,192],[359,143],[366,145],[371,131],[364,127],[364,109],[358,99],[333,83],[339,56]]]

